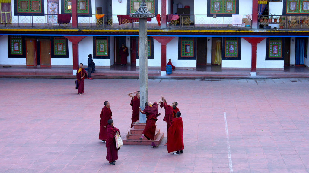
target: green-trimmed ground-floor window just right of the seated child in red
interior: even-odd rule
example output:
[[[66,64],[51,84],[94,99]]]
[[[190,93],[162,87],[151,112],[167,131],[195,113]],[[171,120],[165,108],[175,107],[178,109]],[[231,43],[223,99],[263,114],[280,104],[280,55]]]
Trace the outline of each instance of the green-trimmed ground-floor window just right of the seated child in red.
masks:
[[[196,38],[179,37],[178,38],[178,59],[196,59]]]

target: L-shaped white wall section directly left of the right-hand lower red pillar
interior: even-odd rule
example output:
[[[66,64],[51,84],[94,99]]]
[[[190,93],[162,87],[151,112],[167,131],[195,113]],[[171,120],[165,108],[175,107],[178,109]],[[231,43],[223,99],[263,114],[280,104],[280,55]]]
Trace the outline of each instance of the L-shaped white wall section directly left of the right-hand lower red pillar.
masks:
[[[251,68],[251,44],[243,38],[240,38],[240,51],[240,60],[222,59],[222,67]]]

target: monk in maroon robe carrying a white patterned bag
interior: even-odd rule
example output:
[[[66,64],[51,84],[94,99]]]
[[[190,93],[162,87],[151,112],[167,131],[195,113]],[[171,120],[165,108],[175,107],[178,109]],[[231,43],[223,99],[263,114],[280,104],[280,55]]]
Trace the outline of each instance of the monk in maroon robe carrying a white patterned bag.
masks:
[[[112,119],[108,119],[105,147],[107,149],[106,160],[108,160],[111,165],[115,165],[116,160],[118,160],[118,150],[120,150],[120,148],[117,149],[116,147],[115,135],[117,133],[120,134],[120,131],[114,127],[114,121]]]

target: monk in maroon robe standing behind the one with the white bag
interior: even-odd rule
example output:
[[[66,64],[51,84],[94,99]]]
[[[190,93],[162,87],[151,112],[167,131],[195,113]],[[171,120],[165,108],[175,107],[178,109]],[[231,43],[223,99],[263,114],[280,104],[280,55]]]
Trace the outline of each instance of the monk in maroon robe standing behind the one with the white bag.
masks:
[[[110,104],[108,101],[104,102],[104,107],[101,111],[101,121],[100,121],[100,133],[99,133],[99,139],[102,140],[101,142],[106,142],[106,133],[107,133],[107,121],[109,119],[112,119],[112,111],[110,108]]]

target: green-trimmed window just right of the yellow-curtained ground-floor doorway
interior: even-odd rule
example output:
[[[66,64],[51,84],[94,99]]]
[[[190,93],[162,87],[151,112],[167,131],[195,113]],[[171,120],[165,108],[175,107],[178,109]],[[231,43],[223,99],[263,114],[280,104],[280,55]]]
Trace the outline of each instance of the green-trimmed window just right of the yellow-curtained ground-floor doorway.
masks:
[[[223,37],[222,60],[240,60],[240,38]]]

